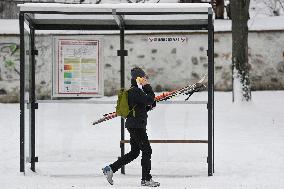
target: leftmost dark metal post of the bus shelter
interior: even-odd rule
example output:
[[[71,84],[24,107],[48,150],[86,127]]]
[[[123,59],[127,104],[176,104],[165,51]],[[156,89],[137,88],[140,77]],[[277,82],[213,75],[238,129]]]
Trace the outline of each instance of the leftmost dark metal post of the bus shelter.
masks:
[[[24,14],[19,15],[20,25],[20,172],[25,172],[25,36]]]

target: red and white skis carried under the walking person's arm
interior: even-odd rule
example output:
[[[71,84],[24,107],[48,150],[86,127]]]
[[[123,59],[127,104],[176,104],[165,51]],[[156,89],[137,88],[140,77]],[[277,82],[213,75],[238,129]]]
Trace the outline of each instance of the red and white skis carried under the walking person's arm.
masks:
[[[194,92],[198,92],[198,91],[206,88],[206,86],[203,84],[205,78],[206,78],[206,75],[204,75],[199,81],[197,81],[197,82],[195,82],[191,85],[187,85],[185,87],[173,90],[171,92],[164,92],[164,93],[156,96],[155,101],[156,102],[167,101],[167,100],[174,98],[174,97],[177,97],[179,95],[188,95],[188,97],[185,99],[185,100],[188,100],[189,97]],[[98,119],[97,121],[94,121],[93,125],[102,123],[104,121],[107,121],[107,120],[110,120],[110,119],[113,119],[113,118],[116,118],[116,117],[117,117],[116,112],[104,114],[102,118]]]

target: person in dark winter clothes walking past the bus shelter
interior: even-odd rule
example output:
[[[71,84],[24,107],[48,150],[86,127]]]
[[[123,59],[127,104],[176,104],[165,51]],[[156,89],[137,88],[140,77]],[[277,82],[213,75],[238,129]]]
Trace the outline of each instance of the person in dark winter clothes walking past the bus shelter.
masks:
[[[129,109],[133,109],[133,111],[129,113],[125,123],[125,127],[130,134],[131,151],[103,168],[103,173],[111,185],[113,185],[113,173],[136,159],[141,151],[141,185],[160,186],[159,182],[153,181],[150,174],[152,148],[146,132],[147,112],[156,106],[154,98],[155,94],[146,79],[145,72],[141,68],[133,68],[131,70],[131,88],[128,91],[128,105]]]

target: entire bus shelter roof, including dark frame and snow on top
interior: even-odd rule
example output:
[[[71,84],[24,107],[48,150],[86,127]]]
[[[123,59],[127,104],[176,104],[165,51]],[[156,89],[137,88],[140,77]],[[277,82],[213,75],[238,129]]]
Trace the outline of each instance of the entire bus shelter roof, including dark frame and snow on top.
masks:
[[[208,3],[25,3],[20,11],[36,30],[206,30]]]

